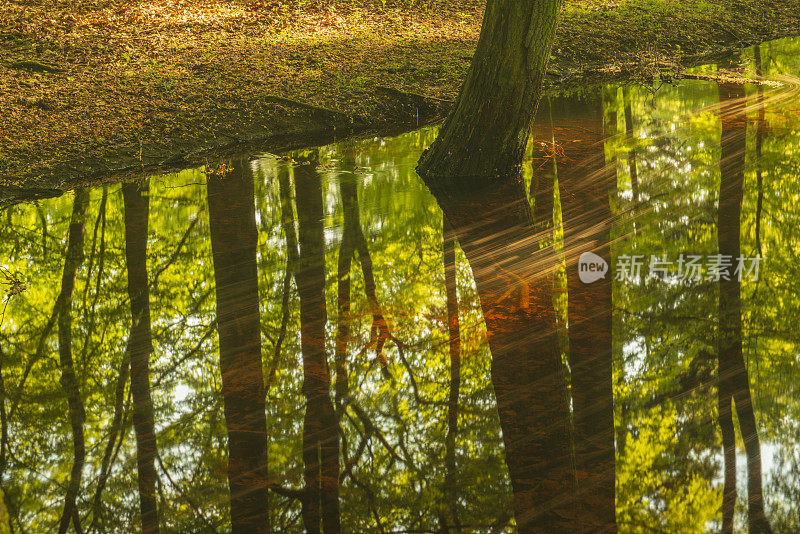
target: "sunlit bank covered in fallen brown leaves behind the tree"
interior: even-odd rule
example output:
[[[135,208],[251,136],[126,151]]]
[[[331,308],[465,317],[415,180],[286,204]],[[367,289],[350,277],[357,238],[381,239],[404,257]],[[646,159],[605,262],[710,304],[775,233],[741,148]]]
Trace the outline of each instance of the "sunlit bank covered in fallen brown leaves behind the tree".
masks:
[[[71,188],[439,120],[483,2],[353,4],[5,4],[0,185]],[[547,87],[670,79],[798,32],[796,0],[573,0]]]

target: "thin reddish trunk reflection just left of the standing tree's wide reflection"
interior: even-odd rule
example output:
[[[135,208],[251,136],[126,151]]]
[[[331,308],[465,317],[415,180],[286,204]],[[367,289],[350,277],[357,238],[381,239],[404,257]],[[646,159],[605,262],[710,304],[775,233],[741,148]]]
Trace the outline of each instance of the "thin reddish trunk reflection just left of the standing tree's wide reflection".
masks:
[[[444,285],[447,296],[447,332],[450,348],[450,395],[447,401],[447,435],[445,436],[445,493],[450,508],[450,522],[456,532],[461,531],[458,520],[458,492],[456,484],[456,437],[458,435],[458,394],[461,388],[461,333],[458,321],[458,294],[456,293],[456,250],[452,232],[443,221],[444,234]]]

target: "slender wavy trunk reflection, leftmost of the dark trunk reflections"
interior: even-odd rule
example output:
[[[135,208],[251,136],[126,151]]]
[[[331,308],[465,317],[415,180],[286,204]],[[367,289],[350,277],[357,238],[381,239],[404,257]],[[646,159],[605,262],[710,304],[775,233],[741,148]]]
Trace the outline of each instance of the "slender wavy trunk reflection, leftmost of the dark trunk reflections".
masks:
[[[69,404],[69,419],[72,425],[72,443],[74,459],[72,471],[64,499],[64,510],[58,524],[59,534],[69,528],[70,521],[77,532],[81,531],[78,509],[75,500],[81,487],[83,464],[86,460],[86,444],[83,438],[83,423],[86,412],[83,408],[75,367],[72,362],[72,293],[75,289],[75,273],[83,263],[83,230],[86,223],[86,209],[89,205],[89,192],[84,189],[75,190],[75,201],[72,205],[72,218],[69,224],[67,252],[64,259],[64,272],[61,277],[61,293],[58,295],[58,356],[61,367],[61,387]]]

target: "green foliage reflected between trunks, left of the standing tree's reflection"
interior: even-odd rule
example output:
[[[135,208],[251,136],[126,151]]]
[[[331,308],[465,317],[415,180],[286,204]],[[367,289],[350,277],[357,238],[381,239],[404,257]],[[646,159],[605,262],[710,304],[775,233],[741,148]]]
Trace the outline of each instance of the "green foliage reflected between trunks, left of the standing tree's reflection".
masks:
[[[436,510],[440,506],[436,503],[443,499],[449,372],[442,226],[441,212],[413,172],[416,158],[435,133],[435,129],[428,129],[356,145],[358,201],[374,263],[377,294],[395,334],[408,348],[404,363],[395,346],[386,347],[394,378],[384,379],[374,350],[363,350],[370,335],[371,311],[363,277],[354,269],[350,387],[355,402],[394,453],[387,452],[380,441],[371,437],[352,469],[353,476],[345,479],[341,493],[343,521],[350,531],[373,528],[373,511],[384,525],[417,522],[421,528],[436,528],[438,523]],[[342,222],[338,175],[352,172],[343,168],[341,150],[342,147],[331,146],[318,151],[328,210],[325,225],[331,336],[337,320],[335,270]],[[309,154],[296,154],[295,159],[300,161],[303,156]],[[252,162],[251,168],[256,178],[263,360],[264,374],[268,376],[283,322],[286,265],[276,176],[281,168],[288,169],[291,176],[292,163],[264,158]],[[204,180],[202,171],[187,171],[154,178],[150,189],[148,268],[155,344],[151,383],[161,456],[157,463],[160,506],[166,521],[162,526],[175,531],[217,528],[228,522],[225,419],[213,324],[214,283]],[[88,411],[86,435],[90,444],[78,506],[89,520],[91,497],[114,412],[117,370],[130,324],[122,199],[118,186],[108,186],[107,192],[104,218],[99,213],[102,192],[92,194],[86,231],[87,260],[78,273],[73,309],[76,346],[86,344],[85,358],[76,355]],[[69,198],[43,203],[41,216],[35,206],[18,206],[9,212],[12,224],[3,227],[4,265],[23,273],[32,286],[9,303],[9,320],[0,338],[4,351],[12,354],[3,361],[11,398],[18,393],[18,377],[35,352],[38,334],[58,293],[63,261],[59,253],[69,214]],[[44,237],[41,217],[47,221]],[[47,244],[46,252],[43,242]],[[103,275],[96,293],[100,263]],[[508,516],[510,487],[488,382],[489,353],[477,295],[463,256],[458,258],[457,273],[465,337],[456,454],[458,479],[466,495],[464,503],[470,503],[463,505],[460,520],[464,524],[489,525],[498,517]],[[33,280],[40,283],[33,284]],[[303,397],[299,303],[294,287],[290,289],[289,303],[287,335],[277,355],[275,378],[267,399],[269,470],[279,485],[300,488]],[[48,337],[47,346],[50,353],[56,349],[54,334]],[[413,374],[413,386],[409,372]],[[100,525],[108,530],[124,529],[138,522],[138,497],[130,490],[136,487],[135,443],[130,412],[127,413],[125,438],[103,494]],[[65,414],[57,365],[48,355],[33,366],[13,415],[13,457],[5,475],[11,481],[9,496],[16,508],[15,516],[29,528],[46,530],[58,517],[57,506],[42,508],[41,503],[62,498],[61,487],[71,465]],[[342,430],[352,457],[367,429],[349,409],[342,418]],[[35,471],[30,468],[33,465],[38,466]],[[275,529],[299,530],[297,500],[272,493],[270,507]],[[418,518],[416,514],[425,509],[431,513]]]

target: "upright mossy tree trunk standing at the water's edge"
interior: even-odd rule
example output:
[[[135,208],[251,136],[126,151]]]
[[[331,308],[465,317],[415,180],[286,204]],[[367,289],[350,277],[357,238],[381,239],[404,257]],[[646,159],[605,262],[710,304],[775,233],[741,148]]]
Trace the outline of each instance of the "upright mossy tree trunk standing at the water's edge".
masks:
[[[558,0],[488,0],[461,94],[420,158],[420,176],[515,174],[539,103],[558,9]]]

